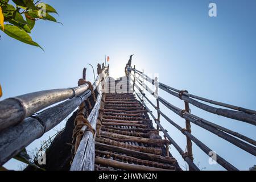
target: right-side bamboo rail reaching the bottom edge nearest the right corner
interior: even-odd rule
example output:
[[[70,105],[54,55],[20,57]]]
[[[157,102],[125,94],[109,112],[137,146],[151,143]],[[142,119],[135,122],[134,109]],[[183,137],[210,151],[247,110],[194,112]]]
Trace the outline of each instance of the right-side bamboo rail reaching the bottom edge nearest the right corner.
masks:
[[[146,100],[152,105],[154,106],[154,104],[148,99],[147,96],[144,96],[144,98],[146,98]],[[191,133],[189,133],[187,130],[184,130],[182,127],[180,127],[179,125],[177,125],[174,121],[172,121],[170,118],[168,118],[165,114],[162,113],[162,111],[160,111],[159,109],[158,112],[169,122],[171,123],[171,125],[173,125],[174,127],[176,127],[176,129],[180,130],[181,133],[183,133],[186,137],[188,137],[189,139],[191,139],[194,143],[196,143],[197,146],[199,146],[199,148],[201,148],[201,150],[203,150],[205,152],[205,154],[209,155],[209,152],[212,151],[209,147],[207,147],[203,142],[201,142],[199,139],[197,139],[196,137],[194,137]],[[238,170],[236,167],[232,166],[232,164],[228,163],[225,159],[221,158],[221,156],[216,155],[216,159],[217,159],[217,163],[219,163],[222,167],[224,167],[227,170]]]

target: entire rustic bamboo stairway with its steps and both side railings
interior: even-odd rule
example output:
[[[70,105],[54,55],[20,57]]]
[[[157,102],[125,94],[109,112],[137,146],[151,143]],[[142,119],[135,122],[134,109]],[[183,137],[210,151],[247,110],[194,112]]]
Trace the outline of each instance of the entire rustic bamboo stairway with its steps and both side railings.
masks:
[[[135,66],[131,67],[131,58],[132,55],[125,67],[125,76],[117,80],[109,76],[109,65],[98,64],[98,76],[93,84],[86,81],[84,68],[76,87],[43,90],[1,101],[0,166],[15,158],[35,139],[42,137],[72,113],[65,129],[56,135],[47,148],[47,163],[39,165],[35,160],[36,165],[46,170],[181,171],[170,151],[170,146],[174,146],[189,170],[199,171],[193,162],[192,142],[209,157],[212,157],[213,149],[192,134],[191,123],[256,156],[254,139],[192,114],[189,104],[208,113],[254,126],[255,110],[172,88],[159,82],[157,77],[150,78]],[[184,109],[159,96],[159,89],[183,101]],[[150,100],[150,95],[155,98],[156,104]],[[185,128],[167,117],[160,104],[183,118]],[[154,107],[157,115],[148,105]],[[184,135],[187,150],[184,151],[164,129],[160,117]],[[227,170],[238,170],[218,154],[214,160]],[[33,166],[26,168],[34,169]]]

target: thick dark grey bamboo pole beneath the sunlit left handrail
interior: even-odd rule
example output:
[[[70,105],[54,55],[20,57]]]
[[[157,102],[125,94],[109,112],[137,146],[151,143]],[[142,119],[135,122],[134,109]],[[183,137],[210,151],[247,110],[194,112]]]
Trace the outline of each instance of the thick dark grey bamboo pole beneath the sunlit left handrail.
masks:
[[[0,133],[0,165],[7,162],[13,156],[23,150],[35,139],[42,137],[61,121],[68,117],[73,110],[90,96],[90,90],[81,97],[75,97],[59,105],[42,111],[33,117],[24,119],[16,126],[9,127]],[[31,126],[29,126],[31,123]]]

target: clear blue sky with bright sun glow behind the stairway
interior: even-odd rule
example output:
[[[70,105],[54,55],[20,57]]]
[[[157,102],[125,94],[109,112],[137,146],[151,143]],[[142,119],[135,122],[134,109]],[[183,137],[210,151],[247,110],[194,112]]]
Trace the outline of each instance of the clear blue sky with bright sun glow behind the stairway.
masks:
[[[159,81],[177,89],[256,110],[256,1],[44,1],[58,11],[58,23],[38,21],[32,38],[42,49],[20,43],[0,32],[1,100],[38,90],[77,85],[82,68],[96,68],[110,56],[110,76],[124,75],[129,55],[132,64],[146,73],[158,73]],[[210,18],[208,5],[217,5]],[[88,67],[88,80],[93,81]],[[183,102],[164,92],[166,100],[181,108]],[[164,113],[184,125],[171,111]],[[256,139],[255,126],[206,113],[191,106],[193,114]],[[161,123],[185,150],[185,137],[167,121]],[[59,129],[62,123],[57,126]],[[28,146],[40,146],[55,131]],[[192,134],[238,169],[256,164],[255,156],[192,125]],[[222,170],[208,164],[208,156],[193,144],[195,163],[206,170]],[[175,148],[171,152],[184,166]],[[11,160],[5,165],[18,169]],[[183,167],[184,169],[184,167]]]

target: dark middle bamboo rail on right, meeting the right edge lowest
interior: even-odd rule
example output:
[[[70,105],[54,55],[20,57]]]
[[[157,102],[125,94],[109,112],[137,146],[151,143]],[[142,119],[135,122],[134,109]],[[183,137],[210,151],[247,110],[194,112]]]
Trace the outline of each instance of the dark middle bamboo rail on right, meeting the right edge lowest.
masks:
[[[135,86],[136,85],[137,84],[135,84]],[[153,93],[152,90],[150,88],[148,88],[147,86],[145,86],[145,85],[142,85],[142,86],[143,86],[143,88],[145,88],[147,90],[147,92],[149,92],[151,94]],[[218,137],[221,137],[221,138],[227,140],[228,142],[234,144],[235,146],[242,148],[244,151],[247,151],[250,154],[256,156],[256,148],[254,146],[251,146],[250,144],[247,144],[247,143],[245,143],[245,142],[243,142],[243,141],[241,141],[241,140],[239,140],[237,138],[232,137],[229,134],[224,133],[223,131],[221,131],[219,129],[216,129],[216,127],[213,127],[213,125],[215,125],[215,126],[218,126],[218,125],[216,125],[216,124],[214,124],[212,122],[209,122],[209,121],[207,121],[207,120],[205,120],[203,118],[199,118],[196,115],[188,113],[187,111],[184,111],[184,110],[180,109],[179,107],[176,107],[176,106],[170,104],[169,102],[167,102],[166,100],[164,100],[160,96],[158,96],[157,98],[168,109],[174,111],[175,114],[180,115],[184,119],[189,119],[189,121],[191,121],[195,125],[203,127],[205,130],[210,131],[211,133],[217,135]]]

